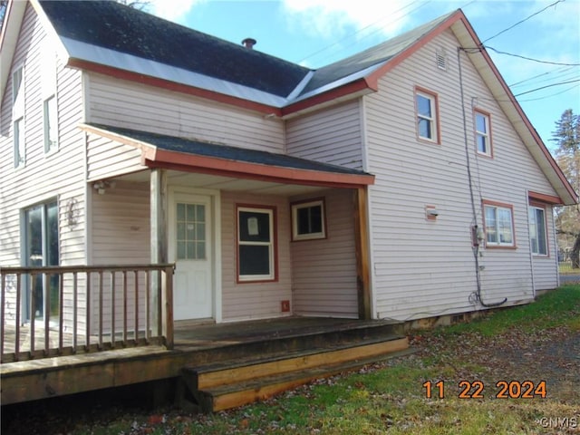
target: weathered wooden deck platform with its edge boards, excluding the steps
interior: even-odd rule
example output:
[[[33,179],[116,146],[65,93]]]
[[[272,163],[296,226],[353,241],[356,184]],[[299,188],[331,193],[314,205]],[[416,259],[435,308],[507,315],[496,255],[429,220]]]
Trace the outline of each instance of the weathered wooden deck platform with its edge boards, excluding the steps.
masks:
[[[396,328],[396,325],[381,321],[308,317],[235,324],[176,322],[175,344],[171,350],[151,344],[4,363],[0,365],[1,401],[2,404],[10,404],[132,383],[182,378],[185,369],[203,371],[208,365],[252,358],[261,361],[268,357],[280,359],[281,355],[300,352],[327,353],[329,358],[335,358],[328,352],[341,349],[341,353],[346,353],[343,349],[353,347],[348,356],[353,362],[358,360],[359,353],[361,356],[364,354],[360,347],[364,343],[376,347],[376,343],[394,343],[398,340],[389,349],[396,352],[406,348],[406,339],[395,334]],[[377,353],[376,358],[379,356]],[[313,357],[308,358],[314,361]],[[320,360],[320,357],[316,358]]]

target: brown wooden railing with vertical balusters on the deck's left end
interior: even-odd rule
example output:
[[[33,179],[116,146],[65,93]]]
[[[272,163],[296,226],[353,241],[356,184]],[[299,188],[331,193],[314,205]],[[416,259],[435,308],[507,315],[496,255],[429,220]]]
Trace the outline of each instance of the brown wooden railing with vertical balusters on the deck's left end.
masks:
[[[1,362],[173,347],[174,265],[0,267]]]

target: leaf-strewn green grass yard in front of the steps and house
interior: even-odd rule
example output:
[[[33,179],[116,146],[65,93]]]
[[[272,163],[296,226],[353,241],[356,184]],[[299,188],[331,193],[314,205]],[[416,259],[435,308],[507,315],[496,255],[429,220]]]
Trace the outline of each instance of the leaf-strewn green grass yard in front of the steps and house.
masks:
[[[507,377],[509,367],[498,371],[496,362],[488,361],[486,356],[494,353],[486,351],[499,342],[509,350],[514,343],[525,346],[531,340],[540,340],[539,348],[555,343],[555,337],[574,337],[578,332],[580,285],[566,285],[539,297],[534,304],[497,310],[470,324],[418,333],[413,340],[422,342],[420,353],[314,382],[270,401],[208,416],[174,410],[166,410],[163,420],[163,411],[157,416],[127,414],[104,424],[68,428],[66,433],[576,433],[580,430],[580,397],[576,390],[580,379],[575,366],[557,372],[564,380],[562,385],[570,387],[566,391],[550,383],[545,399],[497,399],[493,382]],[[534,351],[532,346],[524,352]],[[506,361],[517,362],[509,358]],[[524,360],[513,368],[520,379],[530,376],[535,382],[539,381],[537,373],[545,369],[547,374],[545,361],[527,366]],[[461,379],[485,381],[485,398],[459,399],[457,386]],[[445,397],[440,399],[433,390],[432,398],[428,398],[424,382],[438,380],[445,382]]]

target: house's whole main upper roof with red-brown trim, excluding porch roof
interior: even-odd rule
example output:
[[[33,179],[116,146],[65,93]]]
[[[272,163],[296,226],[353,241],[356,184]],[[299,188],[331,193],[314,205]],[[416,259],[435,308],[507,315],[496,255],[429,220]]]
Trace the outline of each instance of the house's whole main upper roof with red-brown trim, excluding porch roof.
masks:
[[[10,56],[24,16],[10,2],[0,35]],[[266,53],[109,1],[30,0],[68,54],[67,65],[236,104],[281,117],[314,111],[378,90],[392,68],[450,30],[564,204],[577,195],[501,77],[465,14],[457,10],[343,61],[312,71]],[[10,21],[14,23],[10,23]],[[14,36],[15,34],[15,36]],[[0,95],[7,81],[0,62]]]

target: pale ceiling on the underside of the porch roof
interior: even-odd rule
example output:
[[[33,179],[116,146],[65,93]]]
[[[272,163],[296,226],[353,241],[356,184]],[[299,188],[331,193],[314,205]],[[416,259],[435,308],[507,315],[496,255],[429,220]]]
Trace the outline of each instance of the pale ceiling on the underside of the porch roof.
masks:
[[[150,171],[142,170],[132,174],[122,175],[115,179],[133,182],[150,181]],[[193,172],[181,172],[178,170],[168,171],[168,182],[172,186],[187,186],[196,189],[220,189],[254,194],[294,196],[316,192],[322,189],[319,186],[304,186],[298,184],[283,184],[255,179],[235,179],[210,174],[198,174]]]

